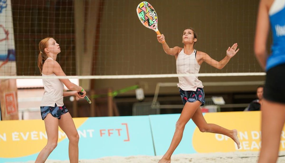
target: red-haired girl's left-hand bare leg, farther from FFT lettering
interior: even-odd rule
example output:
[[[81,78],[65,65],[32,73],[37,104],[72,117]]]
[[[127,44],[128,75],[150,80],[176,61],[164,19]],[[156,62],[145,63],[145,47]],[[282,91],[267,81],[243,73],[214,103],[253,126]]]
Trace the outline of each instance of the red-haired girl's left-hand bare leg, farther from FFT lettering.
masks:
[[[35,163],[44,163],[50,153],[57,146],[58,140],[58,119],[53,117],[51,114],[48,114],[46,118],[44,118],[44,124],[46,126],[46,134],[48,136],[48,143],[46,146],[40,151],[38,157],[36,158]]]

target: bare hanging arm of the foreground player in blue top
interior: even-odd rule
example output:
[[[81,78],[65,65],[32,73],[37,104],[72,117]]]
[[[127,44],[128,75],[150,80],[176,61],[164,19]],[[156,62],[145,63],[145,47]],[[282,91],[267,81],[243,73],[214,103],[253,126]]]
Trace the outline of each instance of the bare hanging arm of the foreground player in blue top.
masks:
[[[267,50],[266,42],[269,33],[269,16],[268,7],[266,2],[261,0],[259,3],[258,15],[257,15],[257,25],[255,32],[255,42],[254,42],[254,53],[260,64],[260,66],[265,70],[266,60],[267,60]]]

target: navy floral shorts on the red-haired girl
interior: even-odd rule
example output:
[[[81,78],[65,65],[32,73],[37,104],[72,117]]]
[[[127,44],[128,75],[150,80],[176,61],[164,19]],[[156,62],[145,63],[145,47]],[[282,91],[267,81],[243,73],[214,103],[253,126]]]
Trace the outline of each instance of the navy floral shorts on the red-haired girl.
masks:
[[[60,119],[60,116],[67,113],[67,112],[68,112],[68,110],[64,105],[63,106],[57,106],[55,104],[54,107],[52,107],[52,106],[41,106],[40,107],[40,114],[42,115],[42,120],[44,120],[44,118],[46,118],[48,113],[52,114],[52,116],[54,116],[55,118]]]

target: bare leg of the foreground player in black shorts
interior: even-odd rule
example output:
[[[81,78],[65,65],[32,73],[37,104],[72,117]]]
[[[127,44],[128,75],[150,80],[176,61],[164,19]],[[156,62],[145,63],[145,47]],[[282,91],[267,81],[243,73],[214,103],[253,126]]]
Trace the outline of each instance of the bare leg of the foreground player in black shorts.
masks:
[[[261,149],[258,163],[275,163],[285,122],[285,104],[263,99],[261,107]]]

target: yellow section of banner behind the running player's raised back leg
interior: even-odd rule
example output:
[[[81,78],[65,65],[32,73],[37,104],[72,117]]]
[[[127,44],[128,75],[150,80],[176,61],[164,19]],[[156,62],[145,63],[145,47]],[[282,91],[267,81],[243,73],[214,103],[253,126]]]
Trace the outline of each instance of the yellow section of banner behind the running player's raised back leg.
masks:
[[[241,148],[237,149],[235,142],[225,135],[202,133],[195,128],[192,143],[196,152],[260,151],[260,111],[206,113],[204,117],[208,123],[218,124],[228,129],[237,129]],[[284,129],[281,134],[280,151],[285,151]]]

